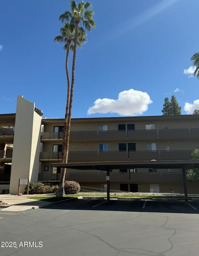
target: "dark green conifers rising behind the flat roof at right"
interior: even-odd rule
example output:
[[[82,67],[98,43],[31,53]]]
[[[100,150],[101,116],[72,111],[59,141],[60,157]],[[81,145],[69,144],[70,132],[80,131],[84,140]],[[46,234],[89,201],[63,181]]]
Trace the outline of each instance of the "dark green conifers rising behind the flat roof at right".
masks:
[[[171,101],[168,98],[164,99],[162,113],[163,115],[181,115],[181,107],[174,95],[171,97]]]

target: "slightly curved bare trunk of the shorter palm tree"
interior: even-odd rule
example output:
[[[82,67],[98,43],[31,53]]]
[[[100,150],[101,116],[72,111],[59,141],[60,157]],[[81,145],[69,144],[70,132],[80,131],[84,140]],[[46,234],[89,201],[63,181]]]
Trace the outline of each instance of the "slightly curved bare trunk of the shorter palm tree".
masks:
[[[65,161],[65,154],[66,154],[66,136],[67,136],[68,109],[69,109],[69,98],[70,98],[70,77],[68,72],[69,47],[70,47],[70,44],[68,43],[67,52],[66,52],[67,102],[66,102],[66,113],[65,113],[64,128],[63,128],[63,140],[62,140],[62,164]],[[57,197],[62,197],[65,195],[65,191],[64,191],[65,176],[66,176],[66,168],[63,168],[61,172],[58,192],[56,194]]]

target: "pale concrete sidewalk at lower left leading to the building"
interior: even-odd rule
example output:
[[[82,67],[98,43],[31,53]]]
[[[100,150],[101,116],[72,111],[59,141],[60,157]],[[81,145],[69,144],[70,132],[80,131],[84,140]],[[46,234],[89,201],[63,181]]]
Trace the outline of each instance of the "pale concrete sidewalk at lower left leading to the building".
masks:
[[[50,194],[51,195],[51,194]],[[50,196],[48,194],[48,196]],[[34,195],[29,195],[29,197]],[[45,196],[45,195],[42,195]],[[9,206],[4,207],[0,205],[0,211],[9,212],[23,212],[29,209],[37,209],[54,203],[44,202],[40,200],[27,198],[26,195],[17,196],[11,194],[1,194],[0,201],[7,203]],[[3,208],[2,208],[3,207]]]

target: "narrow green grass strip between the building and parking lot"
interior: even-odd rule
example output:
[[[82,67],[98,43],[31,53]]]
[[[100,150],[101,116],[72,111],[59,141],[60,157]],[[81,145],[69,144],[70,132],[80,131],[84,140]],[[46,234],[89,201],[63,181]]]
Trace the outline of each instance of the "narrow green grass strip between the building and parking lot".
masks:
[[[65,195],[64,197],[56,197],[56,196],[38,196],[38,197],[30,197],[31,199],[41,200],[45,202],[58,202],[70,198],[76,197],[106,197],[106,194],[74,194],[74,195]],[[180,196],[155,196],[155,195],[110,195],[110,197],[129,197],[129,198],[184,198]],[[189,197],[190,198],[190,197]],[[199,198],[199,197],[191,197],[191,198]]]

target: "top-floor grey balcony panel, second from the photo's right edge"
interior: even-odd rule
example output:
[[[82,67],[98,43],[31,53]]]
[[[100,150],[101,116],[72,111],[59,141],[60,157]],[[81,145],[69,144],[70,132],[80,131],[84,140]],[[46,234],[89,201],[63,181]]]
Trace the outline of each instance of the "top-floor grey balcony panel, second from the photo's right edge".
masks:
[[[189,138],[189,129],[164,129],[159,130],[159,138],[167,139],[167,138]]]

